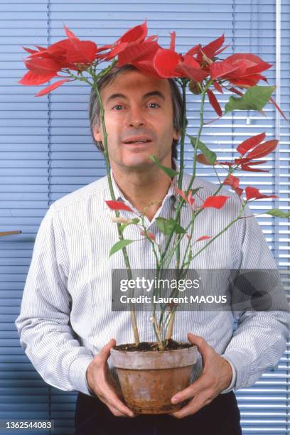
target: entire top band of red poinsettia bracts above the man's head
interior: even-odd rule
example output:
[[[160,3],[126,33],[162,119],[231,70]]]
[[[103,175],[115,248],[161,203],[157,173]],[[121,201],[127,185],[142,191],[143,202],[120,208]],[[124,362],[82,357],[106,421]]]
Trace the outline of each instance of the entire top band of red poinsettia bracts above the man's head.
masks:
[[[60,71],[82,71],[95,62],[109,61],[115,57],[119,67],[130,64],[155,77],[187,78],[191,80],[191,88],[209,77],[218,92],[222,92],[221,83],[224,81],[239,87],[250,87],[259,80],[267,80],[261,73],[271,66],[252,54],[235,54],[218,61],[217,56],[227,48],[227,45],[222,47],[225,42],[224,35],[207,45],[195,45],[185,55],[181,55],[175,49],[176,32],[171,33],[170,47],[161,48],[157,43],[157,36],[147,37],[146,21],[130,28],[114,43],[100,48],[92,41],[80,41],[72,31],[64,27],[68,38],[50,45],[49,48],[24,48],[30,55],[24,61],[28,73],[19,81],[21,85],[43,85],[54,77],[63,77],[63,80],[38,92],[38,96],[72,80],[70,77],[58,75]],[[220,104],[211,90],[208,90],[208,99],[218,116],[221,116]]]

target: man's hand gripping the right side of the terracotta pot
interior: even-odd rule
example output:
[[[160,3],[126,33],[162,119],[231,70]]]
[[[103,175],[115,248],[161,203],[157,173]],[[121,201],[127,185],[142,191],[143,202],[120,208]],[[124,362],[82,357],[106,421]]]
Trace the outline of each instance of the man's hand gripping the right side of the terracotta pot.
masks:
[[[188,333],[188,340],[198,347],[203,360],[203,373],[197,381],[172,397],[171,402],[174,404],[191,399],[180,411],[171,414],[178,419],[195,414],[200,408],[210,404],[220,392],[230,385],[232,380],[230,364],[218,355],[202,337]]]

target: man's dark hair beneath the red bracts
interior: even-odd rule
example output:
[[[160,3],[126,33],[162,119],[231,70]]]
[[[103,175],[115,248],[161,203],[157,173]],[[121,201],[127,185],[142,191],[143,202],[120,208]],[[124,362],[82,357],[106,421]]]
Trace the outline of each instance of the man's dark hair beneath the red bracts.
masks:
[[[115,65],[112,70],[109,71],[106,75],[103,75],[98,81],[97,81],[97,87],[99,89],[99,92],[106,86],[109,85],[116,77],[118,77],[121,74],[127,73],[127,71],[138,71],[138,68],[134,67],[133,65],[124,65],[121,68],[119,68],[117,65]],[[170,88],[171,88],[171,98],[173,103],[173,127],[178,131],[181,132],[182,129],[182,97],[181,92],[178,88],[178,85],[176,84],[175,80],[168,79]],[[100,104],[97,100],[97,95],[95,94],[94,89],[92,88],[90,92],[90,130],[92,134],[92,139],[97,146],[97,149],[100,149],[100,151],[104,151],[104,147],[102,145],[102,142],[96,141],[94,137],[93,129],[94,127],[100,127]],[[177,159],[177,146],[178,146],[178,140],[173,139],[172,141],[172,159]]]

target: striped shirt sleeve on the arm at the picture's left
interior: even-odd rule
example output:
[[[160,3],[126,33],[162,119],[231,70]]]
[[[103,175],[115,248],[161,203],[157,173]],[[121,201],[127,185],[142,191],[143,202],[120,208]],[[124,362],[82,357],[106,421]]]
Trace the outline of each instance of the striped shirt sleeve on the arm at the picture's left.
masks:
[[[70,326],[71,298],[55,237],[54,213],[50,205],[36,235],[15,325],[22,348],[45,382],[90,395],[85,373],[94,355],[80,345]]]

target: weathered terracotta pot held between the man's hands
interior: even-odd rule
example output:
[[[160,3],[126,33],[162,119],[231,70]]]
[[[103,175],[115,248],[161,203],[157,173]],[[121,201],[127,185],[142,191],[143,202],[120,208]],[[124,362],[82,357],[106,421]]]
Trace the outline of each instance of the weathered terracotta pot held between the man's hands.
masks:
[[[135,414],[168,414],[183,407],[172,404],[171,397],[189,385],[196,346],[146,352],[113,348],[111,357],[125,402]]]

